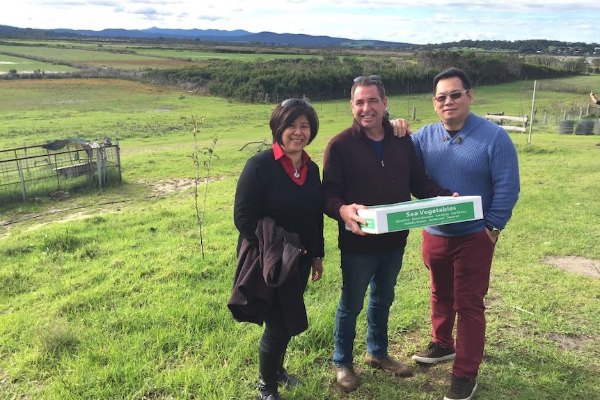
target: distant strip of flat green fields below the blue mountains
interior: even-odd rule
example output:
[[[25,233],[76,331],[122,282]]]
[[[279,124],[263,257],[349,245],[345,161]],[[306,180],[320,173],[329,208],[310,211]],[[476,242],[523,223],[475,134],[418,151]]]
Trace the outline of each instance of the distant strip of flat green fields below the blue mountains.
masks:
[[[6,55],[10,54],[10,56]],[[15,57],[22,56],[22,57]],[[378,60],[382,57],[390,60],[403,60],[413,57],[413,53],[402,51],[368,51],[360,49],[342,49],[339,56],[352,56]],[[63,72],[70,67],[42,61],[64,61],[77,65],[110,67],[121,70],[161,69],[199,65],[207,60],[270,61],[278,59],[310,59],[331,56],[331,50],[308,49],[304,47],[248,47],[237,45],[209,46],[198,44],[132,44],[130,42],[89,41],[41,41],[6,40],[0,45],[0,73],[17,70],[18,73],[41,70],[44,72]],[[38,61],[32,61],[38,60]],[[42,60],[42,61],[39,61]]]

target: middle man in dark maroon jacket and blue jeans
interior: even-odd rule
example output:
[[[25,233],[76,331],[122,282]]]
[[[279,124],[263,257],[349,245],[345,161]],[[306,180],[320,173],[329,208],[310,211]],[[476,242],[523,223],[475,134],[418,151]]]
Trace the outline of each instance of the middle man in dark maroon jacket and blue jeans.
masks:
[[[343,390],[355,390],[353,367],[356,317],[367,307],[365,362],[397,376],[410,376],[408,365],[388,355],[388,317],[407,230],[365,234],[358,209],[416,198],[451,195],[429,179],[410,136],[396,138],[386,118],[388,99],[381,77],[357,77],[351,90],[352,127],[334,136],[323,160],[324,212],[338,221],[342,294],[335,312],[333,365]],[[346,228],[348,227],[348,229]]]

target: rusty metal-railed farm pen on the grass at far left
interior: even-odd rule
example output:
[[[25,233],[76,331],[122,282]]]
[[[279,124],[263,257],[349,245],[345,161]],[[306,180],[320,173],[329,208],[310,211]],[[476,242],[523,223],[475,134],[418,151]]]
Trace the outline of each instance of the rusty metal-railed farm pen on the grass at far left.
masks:
[[[61,139],[0,150],[0,205],[86,188],[120,184],[118,141]]]

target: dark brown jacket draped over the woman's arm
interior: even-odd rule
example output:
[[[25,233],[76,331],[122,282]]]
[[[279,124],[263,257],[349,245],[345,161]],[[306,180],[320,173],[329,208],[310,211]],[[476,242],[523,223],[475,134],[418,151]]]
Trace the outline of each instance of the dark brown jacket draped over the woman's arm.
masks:
[[[236,321],[262,325],[271,303],[278,301],[290,335],[308,328],[304,286],[299,276],[303,253],[298,234],[285,232],[271,218],[258,221],[258,246],[242,240],[227,303]]]

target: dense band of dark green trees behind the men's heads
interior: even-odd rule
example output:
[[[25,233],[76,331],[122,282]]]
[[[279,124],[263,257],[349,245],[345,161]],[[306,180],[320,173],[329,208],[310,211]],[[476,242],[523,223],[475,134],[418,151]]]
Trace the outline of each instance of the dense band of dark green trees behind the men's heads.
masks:
[[[144,79],[245,102],[262,102],[277,93],[340,99],[349,97],[354,77],[370,74],[384,79],[388,95],[427,93],[433,77],[450,66],[467,72],[474,86],[582,72],[578,65],[531,63],[516,54],[425,51],[410,61],[327,56],[253,63],[215,60],[202,66],[145,72]]]

